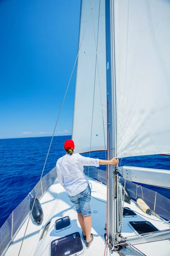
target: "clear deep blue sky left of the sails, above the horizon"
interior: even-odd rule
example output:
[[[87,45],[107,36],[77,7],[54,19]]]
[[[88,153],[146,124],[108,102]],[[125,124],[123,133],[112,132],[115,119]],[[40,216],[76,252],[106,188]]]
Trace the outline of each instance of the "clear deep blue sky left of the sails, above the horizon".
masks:
[[[80,0],[0,0],[0,138],[51,136],[78,48]],[[71,134],[76,70],[55,135]]]

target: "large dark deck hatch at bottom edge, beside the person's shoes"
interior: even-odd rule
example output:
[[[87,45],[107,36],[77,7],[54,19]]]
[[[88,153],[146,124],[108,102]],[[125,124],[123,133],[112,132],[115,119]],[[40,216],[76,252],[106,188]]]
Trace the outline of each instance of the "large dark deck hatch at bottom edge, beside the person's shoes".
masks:
[[[80,255],[84,252],[79,232],[63,236],[51,242],[51,256]]]

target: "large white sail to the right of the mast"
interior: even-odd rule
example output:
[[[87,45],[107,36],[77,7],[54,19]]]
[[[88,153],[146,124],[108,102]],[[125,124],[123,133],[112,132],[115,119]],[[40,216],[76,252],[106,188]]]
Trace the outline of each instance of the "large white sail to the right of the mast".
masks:
[[[170,154],[170,1],[114,2],[118,157]]]

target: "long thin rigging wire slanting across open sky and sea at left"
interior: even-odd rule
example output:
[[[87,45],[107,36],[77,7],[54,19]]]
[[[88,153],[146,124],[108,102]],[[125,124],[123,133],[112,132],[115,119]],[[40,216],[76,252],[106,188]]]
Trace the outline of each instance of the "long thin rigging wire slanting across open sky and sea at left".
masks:
[[[94,0],[94,3],[95,3],[95,0]],[[93,6],[94,6],[94,3],[93,3]],[[93,6],[92,6],[92,9],[93,9]],[[91,9],[90,15],[89,15],[89,17],[88,17],[88,21],[87,21],[87,24],[86,24],[86,27],[85,27],[84,34],[83,34],[83,36],[82,36],[82,41],[83,41],[83,39],[84,39],[85,32],[86,32],[87,27],[88,27],[88,23],[89,23],[89,20],[90,20],[90,17],[91,17],[92,9]],[[66,88],[66,91],[65,91],[65,96],[64,96],[64,98],[63,98],[62,105],[61,105],[61,108],[60,108],[60,110],[59,110],[59,114],[58,114],[58,117],[57,117],[57,122],[56,122],[54,131],[53,131],[53,135],[52,135],[52,138],[51,138],[51,143],[50,143],[49,148],[48,148],[48,153],[47,153],[47,156],[46,156],[46,158],[45,158],[45,163],[44,163],[44,166],[43,166],[43,169],[42,169],[42,173],[41,173],[41,177],[40,177],[40,180],[39,180],[39,183],[38,183],[38,188],[37,188],[37,192],[36,192],[36,195],[35,195],[35,198],[34,198],[34,203],[35,203],[35,199],[36,199],[36,196],[37,196],[37,193],[38,193],[38,189],[39,189],[39,186],[40,186],[40,181],[41,181],[41,179],[42,179],[42,175],[43,175],[43,172],[44,172],[44,169],[45,169],[45,165],[46,165],[46,162],[47,162],[47,158],[48,158],[48,154],[49,154],[49,151],[50,151],[50,148],[51,148],[51,144],[52,144],[52,141],[53,141],[53,138],[54,138],[54,133],[55,133],[55,130],[56,130],[56,127],[57,127],[57,123],[58,123],[58,120],[59,120],[59,116],[60,116],[60,113],[61,113],[61,111],[62,111],[62,106],[63,106],[63,104],[64,104],[65,97],[66,97],[66,94],[67,94],[67,91],[68,91],[68,87],[69,87],[69,85],[70,85],[70,81],[71,81],[71,78],[72,78],[72,75],[73,75],[73,72],[74,72],[74,68],[75,68],[76,63],[77,63],[77,58],[78,58],[78,56],[79,56],[79,51],[80,51],[81,46],[82,46],[82,41],[81,41],[81,43],[80,43],[79,50],[78,50],[78,53],[77,53],[77,57],[76,57],[76,60],[75,60],[75,62],[74,62],[74,67],[73,67],[73,70],[72,70],[72,72],[71,72],[70,79],[69,79],[69,81],[68,81],[68,85],[67,85],[67,88]],[[31,212],[30,212],[30,215],[29,215],[29,218],[28,218],[28,222],[27,222],[27,225],[26,225],[26,230],[27,230],[27,228],[28,228],[28,224],[29,224],[29,221],[30,221],[30,218],[31,218],[32,210],[33,210],[33,208],[34,208],[34,203],[33,203],[33,206],[32,206],[32,209],[31,209]],[[21,246],[20,246],[20,250],[19,250],[18,256],[20,255],[20,251],[21,251],[21,248],[22,248],[22,245],[23,245],[23,241],[24,241],[24,238],[25,238],[25,236],[26,236],[26,230],[25,230],[25,233],[24,233],[24,236],[23,236],[23,239],[22,239],[22,243],[21,243]]]

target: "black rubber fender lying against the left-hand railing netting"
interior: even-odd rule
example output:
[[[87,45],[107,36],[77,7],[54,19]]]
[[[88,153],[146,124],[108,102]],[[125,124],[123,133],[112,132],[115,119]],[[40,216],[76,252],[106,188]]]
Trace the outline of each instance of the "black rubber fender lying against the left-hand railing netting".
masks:
[[[35,203],[34,203],[34,199],[35,199]],[[33,204],[34,204],[34,207],[33,207]],[[37,198],[31,199],[30,209],[32,209],[32,207],[33,207],[32,218],[38,225],[42,224],[44,213],[43,213],[40,201]]]

